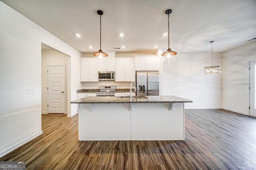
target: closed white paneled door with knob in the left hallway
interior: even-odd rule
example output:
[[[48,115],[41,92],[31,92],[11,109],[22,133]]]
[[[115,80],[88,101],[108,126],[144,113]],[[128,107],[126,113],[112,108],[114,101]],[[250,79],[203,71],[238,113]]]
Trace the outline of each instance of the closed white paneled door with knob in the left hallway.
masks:
[[[48,113],[65,113],[65,67],[48,66]]]

